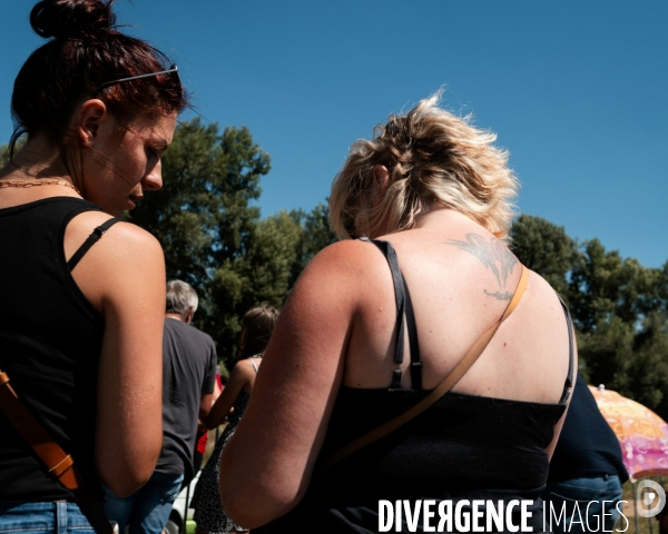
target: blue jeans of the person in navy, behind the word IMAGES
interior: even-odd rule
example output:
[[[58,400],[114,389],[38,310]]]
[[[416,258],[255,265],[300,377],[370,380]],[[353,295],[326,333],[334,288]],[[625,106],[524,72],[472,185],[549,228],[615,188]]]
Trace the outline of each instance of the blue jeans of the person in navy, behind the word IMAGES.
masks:
[[[542,497],[548,528],[551,508],[554,511],[551,525],[556,534],[612,532],[619,517],[617,504],[621,500],[621,484],[616,475],[573,478],[548,484]],[[562,510],[564,517],[557,520]]]

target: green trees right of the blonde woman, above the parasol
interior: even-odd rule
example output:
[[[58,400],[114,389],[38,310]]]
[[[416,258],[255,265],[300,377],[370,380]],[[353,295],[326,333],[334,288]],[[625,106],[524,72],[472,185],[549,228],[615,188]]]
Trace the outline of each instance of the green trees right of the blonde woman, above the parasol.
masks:
[[[584,377],[668,417],[668,263],[650,269],[598,239],[578,245],[538,217],[520,216],[511,237],[568,303]]]

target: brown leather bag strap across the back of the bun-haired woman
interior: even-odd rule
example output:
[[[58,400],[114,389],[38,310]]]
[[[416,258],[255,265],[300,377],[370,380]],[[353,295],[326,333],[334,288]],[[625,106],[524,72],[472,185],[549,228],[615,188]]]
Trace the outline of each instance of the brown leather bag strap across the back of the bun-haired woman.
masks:
[[[73,493],[81,512],[97,534],[112,534],[111,524],[102,503],[77,472],[72,457],[58,445],[45,427],[33,417],[9,384],[7,373],[0,372],[0,411],[26,439],[60,484]]]

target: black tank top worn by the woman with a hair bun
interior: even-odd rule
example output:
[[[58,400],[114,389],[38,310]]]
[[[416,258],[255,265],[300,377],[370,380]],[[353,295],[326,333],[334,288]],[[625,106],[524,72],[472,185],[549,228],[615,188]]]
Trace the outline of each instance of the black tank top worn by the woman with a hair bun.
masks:
[[[102,316],[65,260],[67,224],[95,204],[52,197],[0,209],[0,368],[28,409],[94,473]],[[0,413],[0,501],[73,501]]]

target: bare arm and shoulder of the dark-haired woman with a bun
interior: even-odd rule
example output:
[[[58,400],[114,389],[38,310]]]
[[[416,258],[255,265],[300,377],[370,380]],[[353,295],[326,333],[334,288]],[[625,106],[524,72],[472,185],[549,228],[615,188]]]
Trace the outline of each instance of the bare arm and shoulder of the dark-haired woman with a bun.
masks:
[[[66,257],[108,218],[87,212],[73,219],[66,233]],[[163,250],[150,234],[119,222],[90,248],[72,276],[105,318],[95,459],[101,481],[125,496],[149,478],[163,445]]]

